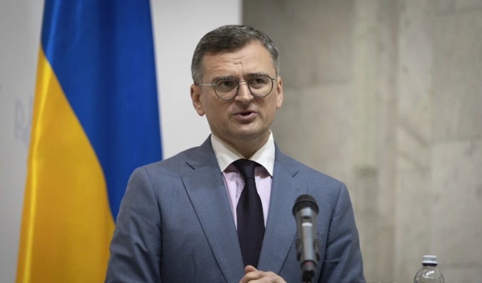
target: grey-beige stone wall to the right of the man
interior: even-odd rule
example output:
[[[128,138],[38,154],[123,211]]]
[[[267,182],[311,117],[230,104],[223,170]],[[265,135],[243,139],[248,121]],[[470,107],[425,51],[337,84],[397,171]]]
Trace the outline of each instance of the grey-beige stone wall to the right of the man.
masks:
[[[344,180],[369,282],[482,283],[482,1],[244,0],[281,54],[280,147]]]

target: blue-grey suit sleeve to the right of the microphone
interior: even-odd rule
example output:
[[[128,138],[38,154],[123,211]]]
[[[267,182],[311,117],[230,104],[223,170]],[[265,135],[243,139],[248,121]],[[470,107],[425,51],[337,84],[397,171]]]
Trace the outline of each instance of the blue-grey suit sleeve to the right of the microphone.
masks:
[[[352,203],[345,184],[341,183],[340,186],[328,231],[319,283],[365,282]]]

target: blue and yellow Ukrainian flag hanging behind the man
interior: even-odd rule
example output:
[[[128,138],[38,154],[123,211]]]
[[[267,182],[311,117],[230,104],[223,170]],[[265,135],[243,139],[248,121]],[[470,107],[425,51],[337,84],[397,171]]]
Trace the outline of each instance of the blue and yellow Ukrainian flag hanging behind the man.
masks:
[[[131,171],[161,159],[149,0],[46,0],[17,283],[103,282]]]

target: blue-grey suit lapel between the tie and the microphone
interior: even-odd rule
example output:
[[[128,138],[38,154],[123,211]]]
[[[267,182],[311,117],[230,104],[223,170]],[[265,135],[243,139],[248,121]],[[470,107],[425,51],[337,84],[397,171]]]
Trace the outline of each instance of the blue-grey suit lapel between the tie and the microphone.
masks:
[[[298,173],[297,163],[275,147],[270,210],[258,269],[279,273],[296,234],[293,204],[306,192],[301,192],[294,181]]]

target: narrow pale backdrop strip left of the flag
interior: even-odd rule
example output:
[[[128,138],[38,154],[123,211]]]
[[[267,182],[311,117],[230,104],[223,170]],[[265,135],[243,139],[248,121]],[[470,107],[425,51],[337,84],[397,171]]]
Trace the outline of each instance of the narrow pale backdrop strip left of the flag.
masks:
[[[0,1],[0,282],[15,282],[43,1]]]

